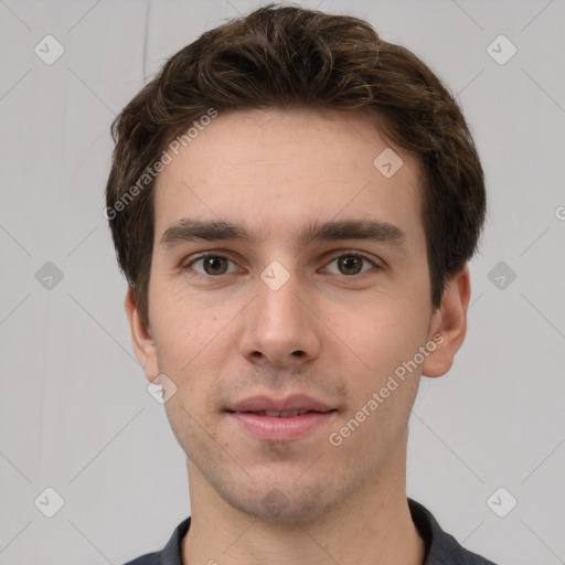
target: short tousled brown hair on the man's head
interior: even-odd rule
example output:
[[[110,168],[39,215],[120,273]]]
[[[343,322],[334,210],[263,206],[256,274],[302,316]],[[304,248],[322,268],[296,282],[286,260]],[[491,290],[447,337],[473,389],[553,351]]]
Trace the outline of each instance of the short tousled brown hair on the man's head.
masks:
[[[292,107],[362,113],[418,158],[431,303],[440,305],[446,281],[476,250],[486,213],[483,171],[456,99],[418,57],[367,22],[269,4],[179,51],[113,124],[105,215],[147,326],[154,182],[135,198],[131,189],[211,108]]]

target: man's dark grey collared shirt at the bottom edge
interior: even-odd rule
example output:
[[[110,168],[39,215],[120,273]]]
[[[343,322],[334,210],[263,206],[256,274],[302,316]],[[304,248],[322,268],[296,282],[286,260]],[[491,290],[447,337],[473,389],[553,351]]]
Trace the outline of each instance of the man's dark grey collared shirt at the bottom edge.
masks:
[[[441,530],[431,513],[419,502],[408,499],[412,520],[426,544],[423,565],[494,565],[491,561],[461,547],[456,539]],[[190,516],[174,530],[161,552],[148,553],[126,565],[182,565],[181,542],[190,527]]]

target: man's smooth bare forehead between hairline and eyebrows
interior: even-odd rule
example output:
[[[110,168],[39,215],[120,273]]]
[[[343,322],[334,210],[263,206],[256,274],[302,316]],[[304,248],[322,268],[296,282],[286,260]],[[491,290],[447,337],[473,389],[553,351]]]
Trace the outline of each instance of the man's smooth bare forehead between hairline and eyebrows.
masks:
[[[186,217],[239,223],[263,241],[340,218],[424,236],[418,162],[359,114],[218,114],[178,153],[157,179],[156,239]]]

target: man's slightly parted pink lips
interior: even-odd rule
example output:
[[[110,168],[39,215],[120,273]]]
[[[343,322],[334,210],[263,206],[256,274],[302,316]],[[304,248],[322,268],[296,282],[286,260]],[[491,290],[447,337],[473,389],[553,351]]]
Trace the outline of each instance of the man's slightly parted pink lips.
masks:
[[[238,430],[265,441],[303,438],[335,417],[338,409],[305,395],[286,398],[254,396],[230,406],[225,413]]]

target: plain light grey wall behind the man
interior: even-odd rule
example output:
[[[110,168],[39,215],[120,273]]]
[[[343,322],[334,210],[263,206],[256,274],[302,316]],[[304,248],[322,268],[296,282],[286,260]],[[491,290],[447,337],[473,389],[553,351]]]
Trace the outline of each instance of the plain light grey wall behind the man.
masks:
[[[109,124],[167,57],[256,6],[0,1],[2,565],[121,564],[190,513],[102,216]],[[488,178],[468,338],[449,375],[422,382],[408,495],[500,564],[565,563],[565,1],[303,6],[366,18],[424,58],[458,95]],[[65,50],[52,65],[34,53],[47,34]],[[503,65],[488,52],[500,34],[518,47]],[[516,275],[503,289],[489,279],[501,260]],[[46,262],[64,275],[51,289],[35,278]],[[46,487],[65,502],[51,519],[34,505]],[[488,504],[500,487],[499,512],[518,500],[505,518]]]

